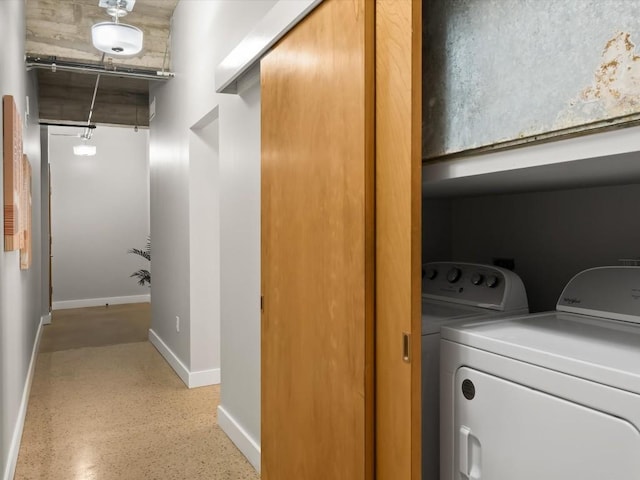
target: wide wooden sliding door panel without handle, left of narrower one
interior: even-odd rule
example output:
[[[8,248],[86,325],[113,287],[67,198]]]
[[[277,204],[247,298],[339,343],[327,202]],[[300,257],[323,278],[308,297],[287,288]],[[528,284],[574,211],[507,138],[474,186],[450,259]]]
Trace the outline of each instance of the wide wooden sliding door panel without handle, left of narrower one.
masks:
[[[325,0],[261,61],[265,480],[373,479],[373,6]]]

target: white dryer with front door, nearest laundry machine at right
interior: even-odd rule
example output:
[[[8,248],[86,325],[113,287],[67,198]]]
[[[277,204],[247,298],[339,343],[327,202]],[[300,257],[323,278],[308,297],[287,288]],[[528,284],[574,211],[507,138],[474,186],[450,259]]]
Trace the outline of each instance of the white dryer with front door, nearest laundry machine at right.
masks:
[[[640,267],[556,311],[442,329],[441,480],[640,478]]]

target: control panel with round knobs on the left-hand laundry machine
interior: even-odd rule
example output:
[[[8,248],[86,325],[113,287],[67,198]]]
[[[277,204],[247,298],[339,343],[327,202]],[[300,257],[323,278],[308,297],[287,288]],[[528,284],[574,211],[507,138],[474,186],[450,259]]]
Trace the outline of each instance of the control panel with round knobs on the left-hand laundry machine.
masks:
[[[492,265],[426,263],[422,267],[422,296],[500,311],[528,308],[520,277]]]

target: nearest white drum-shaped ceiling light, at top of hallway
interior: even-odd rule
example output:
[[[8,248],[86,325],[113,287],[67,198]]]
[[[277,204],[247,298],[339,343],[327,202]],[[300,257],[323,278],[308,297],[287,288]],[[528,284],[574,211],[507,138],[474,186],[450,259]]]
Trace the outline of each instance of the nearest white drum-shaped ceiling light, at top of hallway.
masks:
[[[98,6],[105,8],[113,17],[112,22],[100,22],[91,27],[93,46],[101,52],[115,56],[131,56],[142,50],[143,33],[138,27],[120,23],[133,10],[135,0],[100,0]]]

